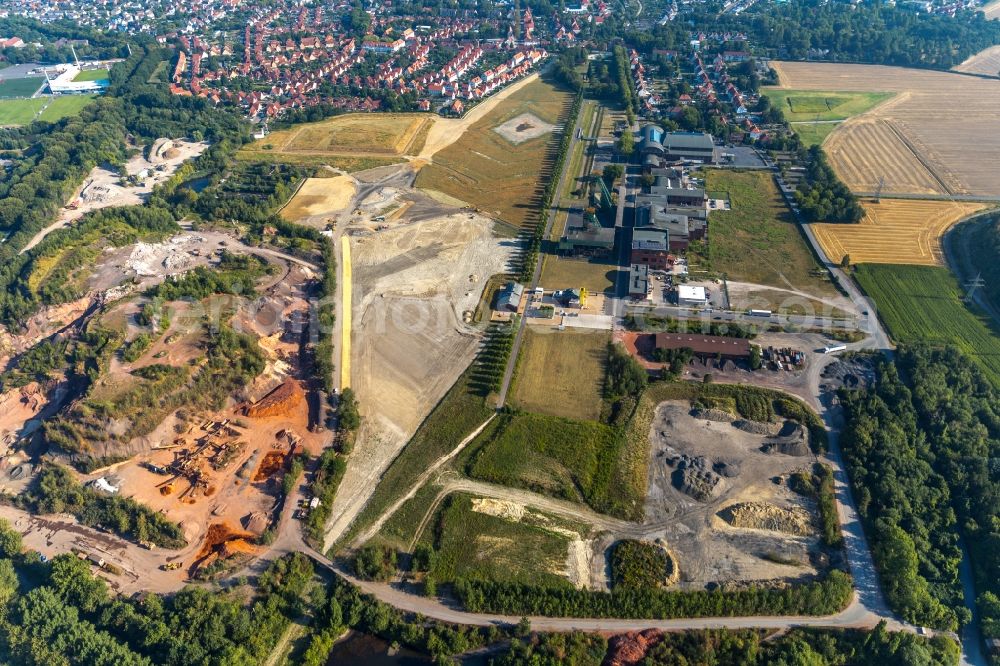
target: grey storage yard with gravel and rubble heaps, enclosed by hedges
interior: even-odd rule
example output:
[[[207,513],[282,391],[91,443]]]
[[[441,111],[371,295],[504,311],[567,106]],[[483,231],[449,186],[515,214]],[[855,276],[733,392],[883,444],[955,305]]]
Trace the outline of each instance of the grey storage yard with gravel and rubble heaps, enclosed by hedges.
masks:
[[[681,585],[814,575],[814,509],[787,485],[815,457],[792,423],[761,424],[665,402],[650,426],[647,523],[670,545]]]

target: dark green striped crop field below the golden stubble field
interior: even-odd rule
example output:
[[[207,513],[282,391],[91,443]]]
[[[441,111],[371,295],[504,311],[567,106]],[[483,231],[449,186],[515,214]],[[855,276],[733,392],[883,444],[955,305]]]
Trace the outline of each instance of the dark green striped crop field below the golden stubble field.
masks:
[[[958,280],[948,269],[860,264],[854,275],[893,340],[955,345],[1000,386],[1000,331],[962,302]]]

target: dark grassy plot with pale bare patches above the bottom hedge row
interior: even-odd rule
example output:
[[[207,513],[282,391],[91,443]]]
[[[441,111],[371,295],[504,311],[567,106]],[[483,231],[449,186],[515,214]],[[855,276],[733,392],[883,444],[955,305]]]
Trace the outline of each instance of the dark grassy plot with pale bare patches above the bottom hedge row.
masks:
[[[520,522],[473,510],[473,498],[453,495],[435,516],[429,540],[438,552],[432,574],[441,582],[459,578],[510,581],[568,587],[564,577],[569,537],[547,525],[566,529],[562,521],[540,514]]]

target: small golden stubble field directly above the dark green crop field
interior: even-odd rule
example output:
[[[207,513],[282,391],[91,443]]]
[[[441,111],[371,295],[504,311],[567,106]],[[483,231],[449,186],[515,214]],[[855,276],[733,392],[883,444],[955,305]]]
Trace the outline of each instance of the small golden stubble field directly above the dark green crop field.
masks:
[[[944,264],[940,238],[953,224],[985,204],[883,199],[863,201],[859,224],[813,224],[823,251],[833,261],[845,254],[851,263]]]

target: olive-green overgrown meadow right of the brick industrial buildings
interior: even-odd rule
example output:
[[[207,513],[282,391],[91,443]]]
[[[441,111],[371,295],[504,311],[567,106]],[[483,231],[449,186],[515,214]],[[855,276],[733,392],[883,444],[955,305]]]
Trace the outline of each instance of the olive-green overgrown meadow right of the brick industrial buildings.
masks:
[[[709,262],[730,280],[834,296],[770,173],[708,169],[706,186],[732,210],[709,215]]]

